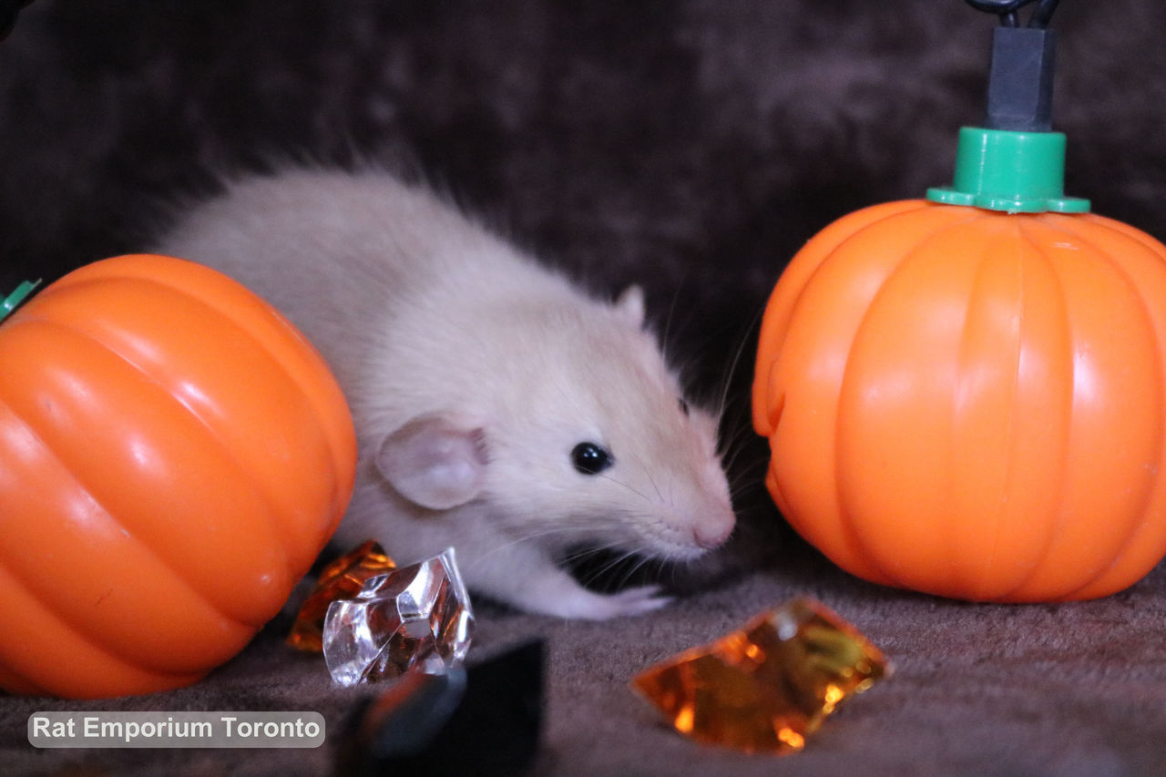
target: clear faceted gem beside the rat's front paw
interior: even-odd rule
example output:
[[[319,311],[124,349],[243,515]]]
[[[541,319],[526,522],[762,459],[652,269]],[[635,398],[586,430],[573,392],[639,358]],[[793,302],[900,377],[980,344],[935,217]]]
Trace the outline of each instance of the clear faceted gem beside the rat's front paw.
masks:
[[[473,612],[454,548],[370,578],[324,617],[324,662],[340,685],[377,682],[416,668],[441,674],[470,649]]]

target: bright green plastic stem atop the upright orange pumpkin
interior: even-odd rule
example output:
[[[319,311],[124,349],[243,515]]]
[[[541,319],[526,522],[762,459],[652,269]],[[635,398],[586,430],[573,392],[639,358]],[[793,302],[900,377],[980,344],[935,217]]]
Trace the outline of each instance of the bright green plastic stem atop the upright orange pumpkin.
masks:
[[[950,187],[927,198],[1009,214],[1084,214],[1089,201],[1065,196],[1065,134],[963,127]]]

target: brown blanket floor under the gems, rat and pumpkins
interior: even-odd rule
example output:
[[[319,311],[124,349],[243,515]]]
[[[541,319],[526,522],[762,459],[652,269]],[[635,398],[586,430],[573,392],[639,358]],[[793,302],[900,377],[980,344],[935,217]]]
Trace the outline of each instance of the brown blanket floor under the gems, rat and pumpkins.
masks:
[[[796,594],[859,625],[895,665],[802,752],[775,758],[694,744],[627,687],[647,665]],[[641,618],[561,622],[491,609],[479,617],[471,656],[548,639],[539,775],[1117,777],[1166,771],[1164,618],[1161,569],[1095,602],[986,606],[866,586],[799,553]],[[333,687],[322,660],[293,653],[281,643],[285,629],[281,618],[185,690],[97,702],[5,699],[6,774],[329,774],[360,692]],[[329,738],[317,750],[35,750],[27,719],[45,709],[315,710]]]

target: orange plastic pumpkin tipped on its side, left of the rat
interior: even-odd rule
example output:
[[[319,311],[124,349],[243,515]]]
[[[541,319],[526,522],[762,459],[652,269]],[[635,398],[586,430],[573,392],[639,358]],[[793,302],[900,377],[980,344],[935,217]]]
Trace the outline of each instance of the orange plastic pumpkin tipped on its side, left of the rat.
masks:
[[[356,442],[321,357],[215,271],[106,259],[0,327],[0,686],[187,685],[282,607]]]

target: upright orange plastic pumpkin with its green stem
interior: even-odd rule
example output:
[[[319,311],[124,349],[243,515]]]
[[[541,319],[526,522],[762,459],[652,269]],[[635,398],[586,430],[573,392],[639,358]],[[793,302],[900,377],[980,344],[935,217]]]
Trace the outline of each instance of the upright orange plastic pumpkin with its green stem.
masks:
[[[861,578],[1077,600],[1166,554],[1166,246],[1060,197],[1063,145],[964,128],[953,189],[840,219],[770,299],[767,485]]]

